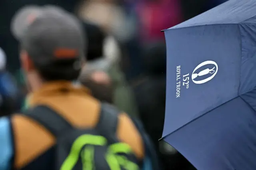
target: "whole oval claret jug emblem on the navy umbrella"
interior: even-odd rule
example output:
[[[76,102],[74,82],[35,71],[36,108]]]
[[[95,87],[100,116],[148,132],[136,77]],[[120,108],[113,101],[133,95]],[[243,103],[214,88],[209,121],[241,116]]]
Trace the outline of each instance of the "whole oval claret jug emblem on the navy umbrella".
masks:
[[[191,79],[196,84],[203,84],[213,79],[218,72],[218,65],[214,61],[204,61],[194,69]]]

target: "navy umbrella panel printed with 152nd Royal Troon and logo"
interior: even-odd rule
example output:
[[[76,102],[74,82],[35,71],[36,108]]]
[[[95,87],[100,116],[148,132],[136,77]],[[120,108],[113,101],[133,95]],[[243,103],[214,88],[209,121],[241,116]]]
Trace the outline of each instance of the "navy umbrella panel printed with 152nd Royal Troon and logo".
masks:
[[[168,57],[163,136],[237,97],[241,67],[238,25],[166,30],[165,36]],[[214,61],[216,65],[196,69],[205,61]],[[206,75],[200,75],[201,71],[206,71]],[[210,81],[202,83],[209,77]]]

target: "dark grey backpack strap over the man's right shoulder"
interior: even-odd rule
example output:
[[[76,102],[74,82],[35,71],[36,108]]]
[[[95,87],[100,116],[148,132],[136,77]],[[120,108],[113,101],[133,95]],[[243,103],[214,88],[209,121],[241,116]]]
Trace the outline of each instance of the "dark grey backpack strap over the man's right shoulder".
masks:
[[[113,105],[101,103],[100,119],[96,128],[103,136],[116,134],[119,113],[120,111]]]

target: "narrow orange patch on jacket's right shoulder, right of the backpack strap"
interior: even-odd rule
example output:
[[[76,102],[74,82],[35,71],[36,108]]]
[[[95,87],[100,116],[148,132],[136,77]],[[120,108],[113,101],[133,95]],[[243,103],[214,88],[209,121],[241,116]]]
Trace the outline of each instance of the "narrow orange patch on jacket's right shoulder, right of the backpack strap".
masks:
[[[144,158],[144,142],[139,130],[134,125],[133,121],[126,113],[119,115],[118,138],[127,144],[129,144],[139,159]]]

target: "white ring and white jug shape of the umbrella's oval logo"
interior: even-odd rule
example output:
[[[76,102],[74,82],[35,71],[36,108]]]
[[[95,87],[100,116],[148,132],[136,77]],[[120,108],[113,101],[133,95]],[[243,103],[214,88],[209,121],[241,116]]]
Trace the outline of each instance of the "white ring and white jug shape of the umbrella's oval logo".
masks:
[[[196,70],[198,70],[199,68],[203,67],[204,65],[208,65],[208,64],[215,65],[215,67],[207,68],[207,69],[200,71],[199,73],[195,73]],[[213,77],[217,74],[217,72],[218,72],[217,63],[215,63],[214,61],[204,61],[201,64],[199,64],[198,66],[196,66],[196,68],[194,69],[194,71],[192,73],[191,78],[194,83],[203,84],[203,83],[206,83],[207,81],[210,81],[211,79],[213,79]],[[207,74],[211,74],[211,76],[206,79],[203,79],[203,80],[198,80],[198,81],[194,80],[196,77],[207,75]]]

